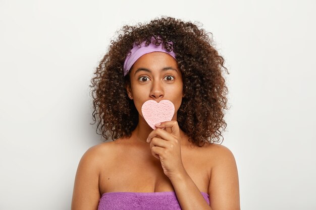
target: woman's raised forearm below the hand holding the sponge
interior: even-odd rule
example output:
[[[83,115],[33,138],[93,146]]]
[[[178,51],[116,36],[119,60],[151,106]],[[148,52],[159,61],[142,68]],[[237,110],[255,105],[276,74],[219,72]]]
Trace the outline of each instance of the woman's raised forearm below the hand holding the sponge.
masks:
[[[170,178],[182,210],[212,210],[191,177],[183,173]]]

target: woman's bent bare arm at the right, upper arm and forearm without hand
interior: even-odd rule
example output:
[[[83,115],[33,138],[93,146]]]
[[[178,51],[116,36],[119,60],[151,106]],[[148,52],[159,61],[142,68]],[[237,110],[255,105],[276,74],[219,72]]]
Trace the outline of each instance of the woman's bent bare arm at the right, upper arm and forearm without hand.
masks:
[[[183,210],[240,210],[235,158],[228,148],[222,145],[215,145],[215,147],[215,150],[210,151],[216,152],[216,155],[212,155],[212,158],[216,160],[210,160],[216,164],[210,169],[209,205],[186,172],[171,179]]]

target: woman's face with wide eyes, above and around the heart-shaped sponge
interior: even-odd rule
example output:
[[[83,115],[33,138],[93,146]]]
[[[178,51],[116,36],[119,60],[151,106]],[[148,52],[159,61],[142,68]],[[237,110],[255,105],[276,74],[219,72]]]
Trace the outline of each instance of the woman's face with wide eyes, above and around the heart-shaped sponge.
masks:
[[[126,87],[134,100],[138,113],[147,100],[169,100],[175,105],[175,115],[182,102],[183,82],[176,60],[165,52],[150,52],[142,55],[130,70],[131,87]]]

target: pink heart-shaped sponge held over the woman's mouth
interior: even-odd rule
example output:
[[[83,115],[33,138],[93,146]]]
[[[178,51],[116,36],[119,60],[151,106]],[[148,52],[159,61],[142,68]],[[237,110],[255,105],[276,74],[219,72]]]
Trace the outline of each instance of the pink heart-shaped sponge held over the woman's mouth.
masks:
[[[148,125],[155,129],[155,124],[172,119],[175,113],[175,106],[169,100],[162,100],[159,103],[154,100],[148,100],[142,105],[141,112]]]

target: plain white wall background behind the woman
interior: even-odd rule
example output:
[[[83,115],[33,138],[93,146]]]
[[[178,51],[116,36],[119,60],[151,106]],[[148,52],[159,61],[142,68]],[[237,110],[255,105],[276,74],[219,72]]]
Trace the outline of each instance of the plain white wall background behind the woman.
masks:
[[[226,59],[243,210],[316,209],[315,1],[0,1],[0,209],[70,209],[102,143],[90,80],[115,32],[198,21]]]

